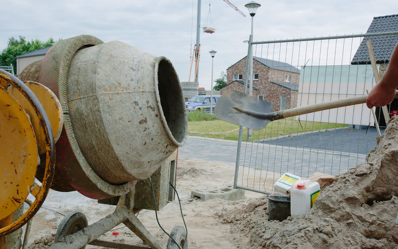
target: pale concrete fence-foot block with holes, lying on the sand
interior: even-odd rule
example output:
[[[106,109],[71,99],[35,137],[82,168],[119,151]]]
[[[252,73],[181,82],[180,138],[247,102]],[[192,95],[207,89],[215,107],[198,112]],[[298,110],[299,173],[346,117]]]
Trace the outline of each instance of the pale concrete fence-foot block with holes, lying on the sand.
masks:
[[[243,189],[235,189],[232,185],[229,185],[214,190],[193,190],[191,192],[191,198],[197,198],[201,201],[206,201],[213,198],[235,201],[245,198],[245,191]]]

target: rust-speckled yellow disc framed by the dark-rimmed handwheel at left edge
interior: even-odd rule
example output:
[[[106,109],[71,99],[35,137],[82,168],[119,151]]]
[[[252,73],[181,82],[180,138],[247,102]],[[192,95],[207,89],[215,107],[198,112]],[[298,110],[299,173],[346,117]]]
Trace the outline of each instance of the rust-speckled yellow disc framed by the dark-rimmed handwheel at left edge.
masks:
[[[37,145],[22,107],[0,88],[0,220],[19,208],[33,186]]]

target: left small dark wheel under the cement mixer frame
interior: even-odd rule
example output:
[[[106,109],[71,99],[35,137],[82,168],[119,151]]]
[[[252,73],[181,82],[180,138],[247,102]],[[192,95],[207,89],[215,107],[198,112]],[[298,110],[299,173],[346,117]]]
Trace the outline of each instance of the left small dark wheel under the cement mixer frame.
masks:
[[[60,238],[75,234],[80,230],[87,228],[89,223],[86,216],[81,212],[73,212],[65,216],[58,226],[55,234],[55,243],[59,242]],[[85,248],[85,247],[83,247]]]

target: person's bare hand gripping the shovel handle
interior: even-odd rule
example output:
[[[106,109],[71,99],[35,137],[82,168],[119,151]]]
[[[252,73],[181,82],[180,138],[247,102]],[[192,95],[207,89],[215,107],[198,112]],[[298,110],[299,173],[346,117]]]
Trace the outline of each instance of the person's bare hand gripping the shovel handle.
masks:
[[[366,99],[366,106],[371,109],[373,107],[381,107],[393,102],[396,96],[396,89],[386,87],[383,82],[376,84],[370,91]]]

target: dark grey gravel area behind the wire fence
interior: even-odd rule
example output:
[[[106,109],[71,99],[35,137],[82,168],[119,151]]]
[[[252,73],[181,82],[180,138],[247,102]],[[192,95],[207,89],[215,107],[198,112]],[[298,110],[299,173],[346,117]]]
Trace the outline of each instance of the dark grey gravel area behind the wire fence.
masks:
[[[384,129],[381,130],[383,134]],[[377,145],[376,127],[341,128],[265,140],[264,143],[308,149],[368,154]]]

